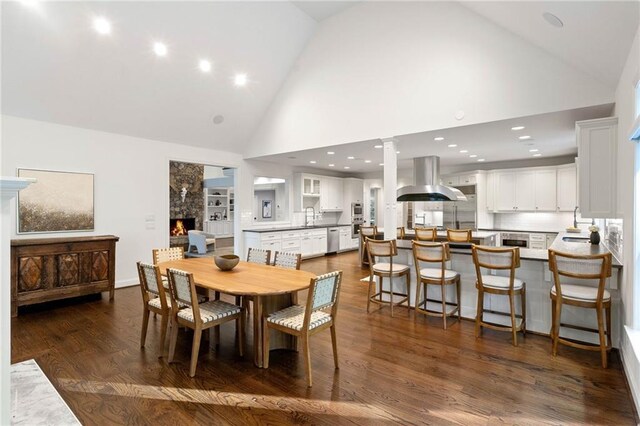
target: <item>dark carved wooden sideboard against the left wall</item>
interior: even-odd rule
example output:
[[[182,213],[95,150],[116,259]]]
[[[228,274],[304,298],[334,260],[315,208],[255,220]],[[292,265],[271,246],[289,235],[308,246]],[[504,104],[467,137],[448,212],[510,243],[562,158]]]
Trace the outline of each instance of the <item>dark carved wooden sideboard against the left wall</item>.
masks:
[[[109,291],[113,300],[118,237],[11,240],[11,315],[18,306]]]

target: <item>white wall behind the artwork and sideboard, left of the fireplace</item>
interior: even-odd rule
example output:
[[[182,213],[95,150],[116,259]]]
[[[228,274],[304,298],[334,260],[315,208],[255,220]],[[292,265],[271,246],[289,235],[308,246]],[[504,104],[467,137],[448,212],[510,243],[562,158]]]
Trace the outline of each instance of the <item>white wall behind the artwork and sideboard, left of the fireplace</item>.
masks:
[[[95,231],[17,236],[13,203],[12,238],[116,235],[116,286],[137,283],[135,263],[151,261],[153,248],[169,246],[170,160],[241,164],[237,154],[11,116],[2,116],[1,151],[3,176],[15,176],[17,168],[95,175]],[[155,229],[146,229],[147,216],[155,217]]]

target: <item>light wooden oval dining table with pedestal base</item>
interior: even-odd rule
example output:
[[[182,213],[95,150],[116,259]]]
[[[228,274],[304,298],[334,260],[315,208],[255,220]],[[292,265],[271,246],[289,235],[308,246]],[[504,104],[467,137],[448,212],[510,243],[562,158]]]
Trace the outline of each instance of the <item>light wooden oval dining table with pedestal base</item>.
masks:
[[[256,366],[262,368],[262,318],[297,300],[297,292],[309,288],[315,274],[295,269],[285,269],[240,261],[231,271],[221,271],[213,258],[189,258],[161,262],[163,275],[167,268],[180,269],[193,274],[198,287],[233,296],[250,296],[253,300],[253,350]],[[296,342],[290,336],[271,331],[270,348],[295,349]]]

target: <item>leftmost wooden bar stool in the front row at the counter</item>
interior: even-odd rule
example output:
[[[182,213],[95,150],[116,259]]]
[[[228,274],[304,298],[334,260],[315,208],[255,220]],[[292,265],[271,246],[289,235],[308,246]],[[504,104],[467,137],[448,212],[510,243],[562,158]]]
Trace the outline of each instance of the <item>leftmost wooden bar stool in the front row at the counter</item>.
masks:
[[[411,269],[407,265],[401,263],[394,263],[393,257],[398,255],[398,247],[396,246],[396,240],[372,240],[366,239],[367,255],[369,256],[369,289],[367,291],[367,313],[369,313],[369,307],[371,303],[377,303],[379,305],[388,304],[391,307],[391,316],[393,317],[393,307],[407,304],[407,315],[410,315],[409,306],[409,286],[411,284]],[[376,262],[376,257],[379,260],[388,258],[387,262]],[[381,259],[382,258],[382,259]],[[380,288],[375,291],[375,282],[373,277],[379,278]],[[393,291],[393,278],[405,276],[407,280],[407,292],[398,293]],[[383,289],[384,278],[389,278],[389,290]],[[374,289],[374,294],[371,294],[371,289]],[[383,300],[382,295],[388,295],[389,300]],[[398,302],[393,301],[394,296],[400,296],[401,299]]]

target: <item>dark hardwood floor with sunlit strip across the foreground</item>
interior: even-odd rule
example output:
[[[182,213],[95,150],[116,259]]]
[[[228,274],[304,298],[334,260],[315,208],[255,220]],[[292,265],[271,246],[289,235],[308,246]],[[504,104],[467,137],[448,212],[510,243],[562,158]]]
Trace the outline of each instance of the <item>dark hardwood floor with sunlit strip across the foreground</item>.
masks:
[[[486,330],[471,321],[446,331],[437,318],[388,308],[366,313],[367,274],[356,253],[302,263],[341,269],[337,322],[340,370],[330,333],[311,341],[314,386],[301,354],[273,351],[254,367],[251,336],[237,355],[234,325],[222,326],[216,352],[201,346],[190,378],[191,335],[180,332],[177,363],[158,358],[159,318],[139,346],[138,287],[107,297],[21,311],[13,320],[12,361],[34,358],[83,424],[636,424],[620,359],[602,369],[596,352],[561,347],[548,337]]]

